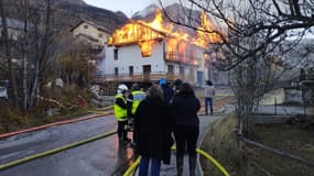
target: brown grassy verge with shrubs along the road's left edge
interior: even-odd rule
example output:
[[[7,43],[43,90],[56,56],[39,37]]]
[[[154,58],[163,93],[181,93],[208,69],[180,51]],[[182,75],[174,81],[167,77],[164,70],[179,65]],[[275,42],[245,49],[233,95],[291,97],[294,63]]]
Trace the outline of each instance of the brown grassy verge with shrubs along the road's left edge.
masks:
[[[77,99],[78,96],[88,100],[90,94],[86,89],[82,89],[75,85],[66,86],[63,89],[56,90],[45,89],[43,91],[45,100],[39,101],[36,108],[30,112],[22,112],[6,102],[1,102],[0,133],[12,132],[62,120],[75,119],[83,114],[87,114],[91,107],[82,108],[79,105],[80,102]],[[46,99],[57,100],[65,108],[62,108],[55,102],[47,101]],[[69,109],[68,107],[76,108]],[[58,113],[47,116],[46,111],[48,109],[58,109]]]

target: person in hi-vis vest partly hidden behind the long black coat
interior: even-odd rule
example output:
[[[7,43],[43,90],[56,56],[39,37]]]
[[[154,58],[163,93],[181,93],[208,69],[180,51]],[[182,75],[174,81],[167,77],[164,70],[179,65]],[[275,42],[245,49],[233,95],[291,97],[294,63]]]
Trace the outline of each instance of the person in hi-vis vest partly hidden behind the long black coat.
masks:
[[[133,143],[134,146],[137,143],[137,129],[133,129],[133,121],[136,119],[136,111],[140,102],[147,97],[145,92],[142,91],[138,84],[133,84],[131,87],[131,94],[128,97],[127,102],[127,113],[129,119],[129,128],[133,131]]]

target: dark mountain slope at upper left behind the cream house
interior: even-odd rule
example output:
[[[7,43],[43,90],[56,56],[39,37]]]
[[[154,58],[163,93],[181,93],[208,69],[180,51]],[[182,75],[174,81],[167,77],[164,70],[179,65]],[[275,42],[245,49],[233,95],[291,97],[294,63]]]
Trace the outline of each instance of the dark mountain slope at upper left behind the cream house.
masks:
[[[45,9],[44,0],[30,0],[31,9]],[[53,24],[57,30],[68,31],[77,24],[82,19],[89,20],[98,25],[102,25],[109,31],[115,31],[129,21],[128,16],[122,12],[112,12],[110,10],[97,8],[87,4],[83,0],[52,0],[52,18]],[[20,1],[6,1],[8,16],[21,19],[23,9]]]

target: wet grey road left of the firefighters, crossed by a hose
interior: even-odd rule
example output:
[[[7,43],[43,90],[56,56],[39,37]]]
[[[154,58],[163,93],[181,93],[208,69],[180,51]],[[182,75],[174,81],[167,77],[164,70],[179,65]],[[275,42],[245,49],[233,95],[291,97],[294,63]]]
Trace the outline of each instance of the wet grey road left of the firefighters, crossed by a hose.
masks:
[[[0,164],[116,130],[113,116],[48,128],[0,141]],[[111,176],[131,162],[132,150],[117,134],[0,170],[1,176]]]

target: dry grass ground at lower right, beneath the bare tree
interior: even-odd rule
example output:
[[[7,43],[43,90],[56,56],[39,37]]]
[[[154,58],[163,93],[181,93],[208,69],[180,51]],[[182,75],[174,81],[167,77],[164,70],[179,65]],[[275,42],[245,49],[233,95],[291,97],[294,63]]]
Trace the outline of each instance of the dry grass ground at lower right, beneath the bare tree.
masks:
[[[215,157],[231,176],[314,176],[314,168],[273,154],[242,145],[239,150],[234,129],[235,116],[215,121],[202,148]],[[310,131],[293,124],[256,127],[250,139],[268,146],[314,161],[314,139]],[[208,161],[201,158],[205,176],[221,175]]]

